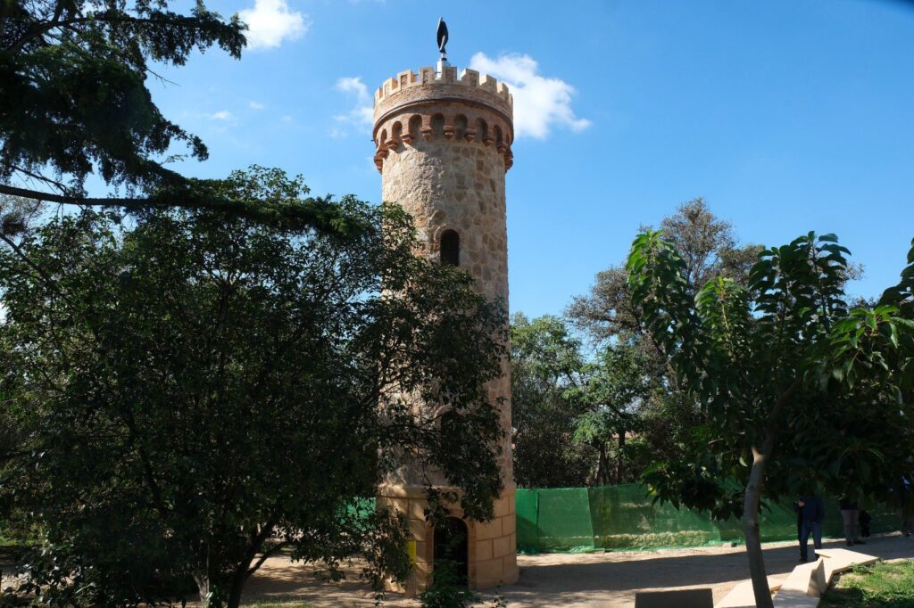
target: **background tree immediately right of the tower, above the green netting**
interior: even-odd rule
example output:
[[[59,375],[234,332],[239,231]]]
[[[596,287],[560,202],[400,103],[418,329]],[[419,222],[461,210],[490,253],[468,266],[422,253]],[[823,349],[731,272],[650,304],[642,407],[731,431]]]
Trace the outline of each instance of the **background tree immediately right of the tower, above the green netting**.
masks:
[[[584,362],[580,342],[558,317],[511,319],[511,425],[514,471],[524,487],[586,485],[589,446],[574,441],[581,411],[569,398]]]

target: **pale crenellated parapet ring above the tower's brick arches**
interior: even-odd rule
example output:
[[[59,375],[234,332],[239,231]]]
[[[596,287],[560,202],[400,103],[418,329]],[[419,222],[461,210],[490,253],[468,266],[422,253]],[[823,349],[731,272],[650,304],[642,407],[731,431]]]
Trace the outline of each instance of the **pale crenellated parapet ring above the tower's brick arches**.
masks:
[[[504,82],[481,75],[475,69],[464,69],[458,76],[454,66],[445,66],[441,72],[431,67],[420,68],[419,74],[410,69],[400,72],[397,78],[385,80],[375,92],[375,121],[401,102],[448,98],[491,106],[513,122],[514,98]]]

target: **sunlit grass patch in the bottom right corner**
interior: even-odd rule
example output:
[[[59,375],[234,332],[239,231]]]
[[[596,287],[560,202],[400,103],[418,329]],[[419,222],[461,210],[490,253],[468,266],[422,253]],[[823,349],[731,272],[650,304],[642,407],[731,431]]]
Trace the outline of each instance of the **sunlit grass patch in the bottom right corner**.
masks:
[[[845,572],[820,606],[914,608],[914,561],[880,561]]]

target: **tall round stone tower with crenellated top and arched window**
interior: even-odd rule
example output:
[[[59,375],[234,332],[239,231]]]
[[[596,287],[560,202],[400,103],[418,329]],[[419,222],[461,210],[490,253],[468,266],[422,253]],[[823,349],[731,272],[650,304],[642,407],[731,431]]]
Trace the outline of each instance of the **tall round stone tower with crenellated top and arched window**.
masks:
[[[507,87],[472,69],[460,75],[446,61],[388,79],[375,94],[373,138],[383,200],[412,215],[420,255],[454,264],[475,279],[489,299],[508,297],[505,173],[512,165],[513,100]],[[508,362],[488,387],[492,403],[503,399],[501,421],[511,428]],[[418,405],[422,407],[421,404]],[[510,433],[500,466],[505,492],[494,504],[495,518],[477,522],[452,508],[466,545],[461,560],[470,587],[484,589],[517,580],[515,483]],[[439,480],[443,485],[445,480]],[[421,480],[409,466],[378,488],[378,501],[409,518],[416,568],[401,591],[422,591],[431,572],[440,530],[425,521]],[[465,527],[465,528],[464,528]]]

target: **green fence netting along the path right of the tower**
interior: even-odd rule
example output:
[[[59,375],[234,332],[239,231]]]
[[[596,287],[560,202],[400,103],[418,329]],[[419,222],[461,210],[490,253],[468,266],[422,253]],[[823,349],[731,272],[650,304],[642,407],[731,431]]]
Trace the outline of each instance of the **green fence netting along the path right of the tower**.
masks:
[[[714,521],[706,513],[654,504],[643,486],[518,488],[515,495],[517,550],[638,550],[697,547],[740,542],[739,520]],[[897,528],[895,509],[867,509],[874,533]],[[764,541],[796,539],[791,505],[772,505],[760,514]],[[844,534],[837,501],[825,502],[825,536]]]

